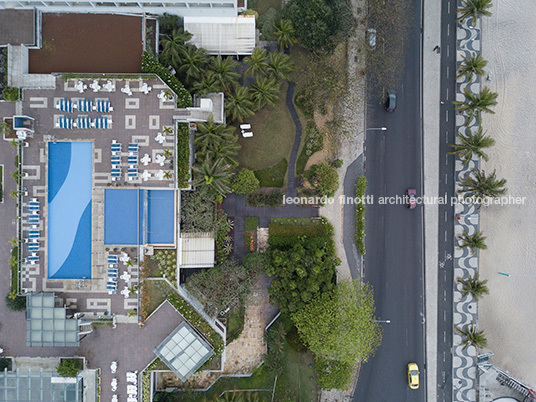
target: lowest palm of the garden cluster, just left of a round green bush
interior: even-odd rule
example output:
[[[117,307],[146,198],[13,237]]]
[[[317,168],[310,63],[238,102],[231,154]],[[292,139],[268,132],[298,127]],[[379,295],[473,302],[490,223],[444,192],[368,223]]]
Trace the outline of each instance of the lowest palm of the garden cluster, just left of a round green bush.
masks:
[[[193,171],[193,186],[202,192],[223,196],[231,191],[231,165],[223,159],[211,161],[207,155],[202,163],[193,166]]]

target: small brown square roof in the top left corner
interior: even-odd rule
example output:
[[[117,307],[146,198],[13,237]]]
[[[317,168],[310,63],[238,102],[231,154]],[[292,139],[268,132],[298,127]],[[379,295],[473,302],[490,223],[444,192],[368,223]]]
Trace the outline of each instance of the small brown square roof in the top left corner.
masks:
[[[0,10],[0,46],[34,45],[34,10]]]

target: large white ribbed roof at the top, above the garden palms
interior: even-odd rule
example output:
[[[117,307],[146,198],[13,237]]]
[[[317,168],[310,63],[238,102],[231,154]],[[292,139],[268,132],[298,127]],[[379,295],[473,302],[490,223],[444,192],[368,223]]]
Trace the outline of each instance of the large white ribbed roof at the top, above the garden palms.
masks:
[[[184,17],[184,30],[192,34],[187,43],[210,54],[249,55],[255,48],[255,16]]]

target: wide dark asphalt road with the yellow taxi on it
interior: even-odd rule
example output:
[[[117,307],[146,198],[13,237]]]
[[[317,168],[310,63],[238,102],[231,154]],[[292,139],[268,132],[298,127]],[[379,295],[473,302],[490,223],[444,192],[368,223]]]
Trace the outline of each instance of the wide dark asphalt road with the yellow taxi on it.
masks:
[[[368,194],[364,279],[374,287],[376,315],[390,320],[382,345],[362,366],[354,401],[425,401],[425,342],[423,288],[423,208],[379,205],[378,197],[403,196],[407,189],[422,194],[422,130],[420,121],[420,2],[414,1],[416,21],[397,88],[398,106],[387,113],[378,99],[369,97],[365,156]],[[421,386],[411,390],[407,364],[420,368]]]

